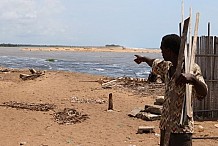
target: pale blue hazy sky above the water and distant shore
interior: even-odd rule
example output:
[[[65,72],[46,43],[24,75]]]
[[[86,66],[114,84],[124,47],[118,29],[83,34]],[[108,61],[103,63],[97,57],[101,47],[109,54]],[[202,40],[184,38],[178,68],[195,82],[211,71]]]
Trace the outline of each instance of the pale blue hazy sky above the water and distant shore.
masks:
[[[199,35],[218,34],[217,0],[184,0]],[[159,48],[179,34],[182,0],[0,0],[0,43]],[[193,32],[192,32],[193,34]]]

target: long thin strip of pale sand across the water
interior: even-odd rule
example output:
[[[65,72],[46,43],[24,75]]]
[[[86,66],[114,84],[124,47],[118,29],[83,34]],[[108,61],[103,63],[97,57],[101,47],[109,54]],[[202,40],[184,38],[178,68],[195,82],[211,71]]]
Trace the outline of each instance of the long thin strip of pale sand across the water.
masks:
[[[124,47],[26,47],[22,51],[69,51],[69,52],[117,52],[117,53],[161,53],[160,49]]]

